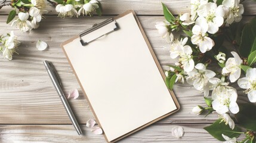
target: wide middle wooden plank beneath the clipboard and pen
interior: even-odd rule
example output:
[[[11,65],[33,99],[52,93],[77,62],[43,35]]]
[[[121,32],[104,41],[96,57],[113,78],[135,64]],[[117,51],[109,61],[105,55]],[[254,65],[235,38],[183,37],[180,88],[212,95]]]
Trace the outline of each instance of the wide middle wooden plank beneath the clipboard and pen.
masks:
[[[70,101],[76,116],[78,116],[79,123],[86,123],[88,119],[94,118],[85,97],[82,95],[75,75],[60,48],[60,43],[82,32],[82,30],[88,29],[92,24],[99,23],[109,17],[66,18],[62,20],[54,15],[49,15],[47,19],[42,20],[39,29],[27,33],[6,26],[4,23],[6,17],[0,16],[1,33],[15,30],[22,45],[18,48],[19,55],[14,55],[13,61],[0,58],[0,123],[70,123],[42,64],[44,60],[53,61],[66,94],[69,89],[79,89],[81,94],[79,99]],[[245,19],[250,18],[246,17]],[[165,42],[159,37],[155,29],[156,21],[161,21],[164,17],[141,16],[139,19],[158,60],[162,67],[166,69],[166,64],[174,63],[174,61],[169,58],[169,51],[162,48]],[[47,42],[50,48],[47,51],[38,51],[35,48],[38,39]],[[177,84],[174,86],[174,92],[181,104],[181,110],[159,123],[212,123],[217,119],[215,115],[205,118],[192,114],[193,107],[198,104],[205,105],[203,95],[199,94],[192,86]],[[242,91],[239,92],[242,93]],[[239,95],[239,99],[246,100],[247,97]]]

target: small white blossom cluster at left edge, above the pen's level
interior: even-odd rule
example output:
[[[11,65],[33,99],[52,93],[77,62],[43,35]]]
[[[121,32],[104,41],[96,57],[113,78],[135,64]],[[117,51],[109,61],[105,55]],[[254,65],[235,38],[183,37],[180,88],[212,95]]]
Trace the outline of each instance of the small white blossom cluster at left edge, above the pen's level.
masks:
[[[13,54],[17,53],[16,49],[19,45],[20,42],[17,40],[17,36],[14,35],[13,31],[6,36],[0,36],[0,53],[2,52],[3,57],[8,60],[13,59]]]

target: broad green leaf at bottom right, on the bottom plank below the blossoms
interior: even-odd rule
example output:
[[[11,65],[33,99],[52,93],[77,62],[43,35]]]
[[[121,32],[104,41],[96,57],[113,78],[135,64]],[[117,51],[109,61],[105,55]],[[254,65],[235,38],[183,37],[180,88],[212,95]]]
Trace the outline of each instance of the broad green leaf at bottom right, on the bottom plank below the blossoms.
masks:
[[[206,126],[205,129],[209,134],[211,134],[214,138],[220,140],[220,141],[226,141],[221,134],[224,134],[226,136],[229,136],[229,138],[238,137],[240,133],[240,129],[235,126],[235,128],[232,130],[230,129],[229,125],[225,125],[224,122],[221,122],[221,119],[218,119],[216,122],[214,122],[210,126]]]

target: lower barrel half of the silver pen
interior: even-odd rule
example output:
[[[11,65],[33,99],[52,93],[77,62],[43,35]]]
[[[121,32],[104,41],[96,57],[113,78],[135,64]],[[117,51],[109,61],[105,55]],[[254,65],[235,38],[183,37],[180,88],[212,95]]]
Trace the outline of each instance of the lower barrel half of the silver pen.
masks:
[[[69,115],[69,119],[71,120],[73,126],[76,128],[76,131],[78,132],[78,135],[81,135],[82,134],[82,130],[81,128],[79,127],[79,124],[78,122],[76,121],[76,118],[69,106],[69,103],[67,102],[67,99],[66,97],[63,95],[63,96],[60,96],[60,100],[61,102],[63,103],[66,111],[67,111],[67,114]]]

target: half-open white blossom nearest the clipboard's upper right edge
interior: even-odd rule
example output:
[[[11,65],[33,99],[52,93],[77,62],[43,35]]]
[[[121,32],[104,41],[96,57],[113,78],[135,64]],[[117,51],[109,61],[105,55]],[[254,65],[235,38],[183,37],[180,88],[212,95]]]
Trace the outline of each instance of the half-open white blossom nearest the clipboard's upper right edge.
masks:
[[[171,32],[168,32],[169,23],[167,21],[157,22],[156,29],[158,29],[158,33],[165,39],[167,43],[170,43],[174,40],[174,35]]]

